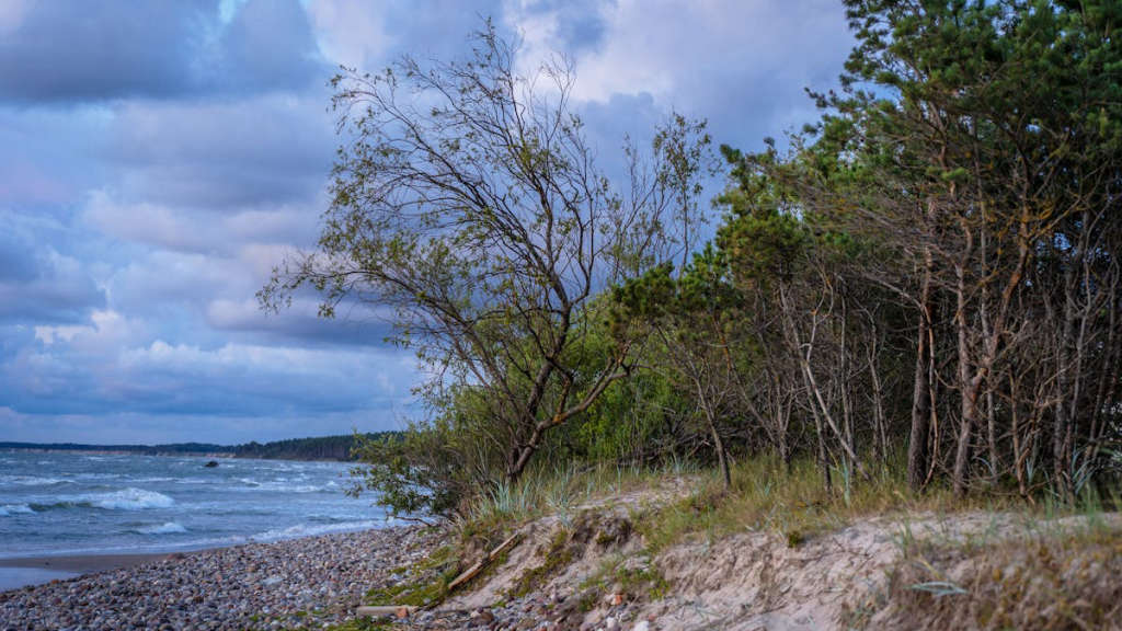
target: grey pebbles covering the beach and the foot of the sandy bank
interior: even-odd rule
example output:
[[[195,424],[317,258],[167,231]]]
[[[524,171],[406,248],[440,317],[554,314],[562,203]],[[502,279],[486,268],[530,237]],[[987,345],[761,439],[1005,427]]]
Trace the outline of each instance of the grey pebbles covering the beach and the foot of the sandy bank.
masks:
[[[398,527],[172,555],[0,593],[0,630],[322,629],[353,620],[370,589],[410,580],[405,568],[422,565],[448,538]],[[576,589],[563,592],[383,622],[402,630],[647,629],[628,602],[600,603],[588,616]]]

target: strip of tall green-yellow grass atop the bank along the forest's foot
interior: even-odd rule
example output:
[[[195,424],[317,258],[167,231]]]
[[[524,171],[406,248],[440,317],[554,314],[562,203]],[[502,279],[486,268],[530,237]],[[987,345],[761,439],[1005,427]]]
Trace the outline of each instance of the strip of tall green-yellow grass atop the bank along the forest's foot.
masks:
[[[461,528],[478,531],[509,528],[526,520],[555,515],[562,522],[581,506],[604,503],[653,485],[678,482],[675,496],[662,494],[657,505],[633,507],[633,521],[654,549],[688,533],[719,538],[734,532],[770,531],[784,536],[790,546],[821,532],[844,528],[868,515],[903,521],[917,513],[948,514],[962,511],[1015,512],[1027,521],[1085,514],[1092,519],[1107,506],[1122,505],[1118,494],[1100,497],[1093,485],[1084,485],[1076,503],[1063,503],[1047,494],[1037,504],[1017,495],[976,493],[955,497],[949,487],[934,485],[923,493],[908,486],[903,455],[868,467],[868,477],[855,475],[846,463],[831,472],[827,490],[821,469],[811,458],[787,466],[780,458],[762,454],[741,458],[733,466],[733,483],[724,488],[718,473],[683,460],[655,468],[638,466],[555,466],[528,472],[515,484],[496,484],[481,494],[461,520]],[[682,481],[687,483],[682,485]]]

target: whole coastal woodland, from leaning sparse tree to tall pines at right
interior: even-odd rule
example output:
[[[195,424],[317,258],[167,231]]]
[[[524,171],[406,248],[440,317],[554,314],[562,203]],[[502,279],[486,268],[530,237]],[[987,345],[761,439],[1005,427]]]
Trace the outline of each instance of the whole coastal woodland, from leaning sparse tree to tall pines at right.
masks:
[[[679,459],[726,485],[813,463],[828,492],[1118,483],[1122,4],[845,6],[817,120],[715,150],[673,113],[625,143],[624,181],[572,66],[519,74],[489,24],[465,61],[335,77],[319,247],[260,299],[392,312],[427,367],[427,413],[358,450],[383,503],[454,514],[527,472]]]

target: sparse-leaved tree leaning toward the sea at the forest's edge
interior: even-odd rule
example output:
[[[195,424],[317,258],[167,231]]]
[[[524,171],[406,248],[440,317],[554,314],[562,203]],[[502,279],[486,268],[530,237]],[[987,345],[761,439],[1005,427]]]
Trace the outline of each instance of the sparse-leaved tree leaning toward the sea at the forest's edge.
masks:
[[[348,136],[319,247],[285,262],[260,299],[278,309],[310,285],[324,317],[343,301],[389,310],[394,341],[429,368],[430,401],[482,393],[484,447],[514,479],[551,429],[627,375],[633,332],[580,357],[590,299],[690,249],[709,139],[674,116],[651,157],[626,143],[620,193],[571,109],[571,65],[518,74],[489,22],[472,45],[465,62],[405,57],[333,80]]]

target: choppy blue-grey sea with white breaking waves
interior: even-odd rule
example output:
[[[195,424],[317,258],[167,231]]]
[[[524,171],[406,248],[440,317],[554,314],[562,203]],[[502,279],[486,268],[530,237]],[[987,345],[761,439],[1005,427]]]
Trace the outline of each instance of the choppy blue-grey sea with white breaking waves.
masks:
[[[0,558],[169,552],[378,528],[349,465],[0,451]]]

